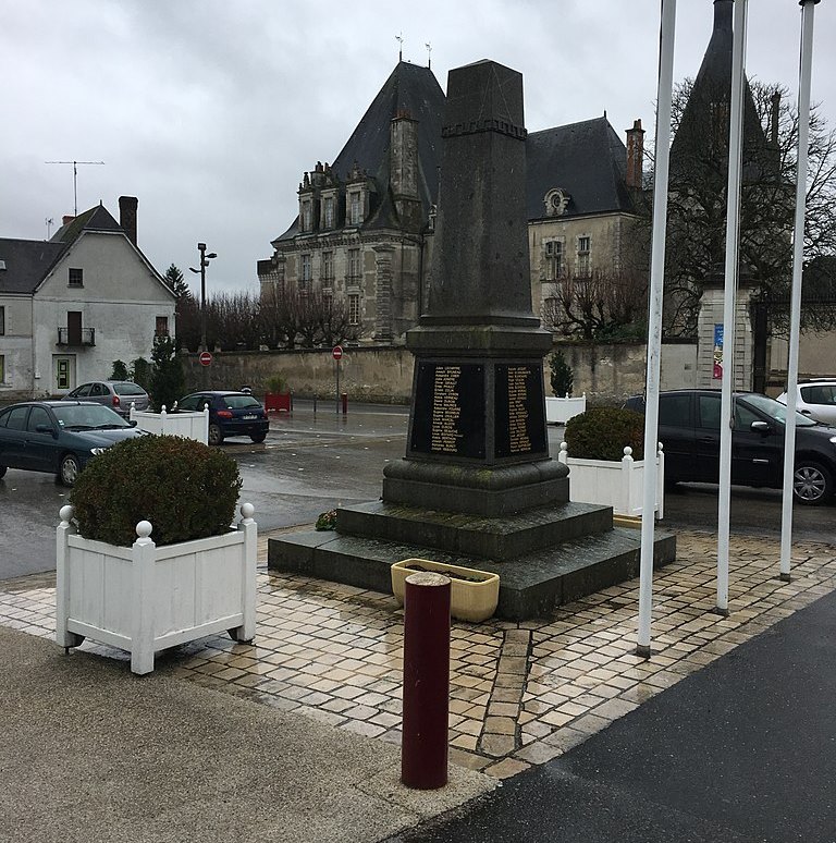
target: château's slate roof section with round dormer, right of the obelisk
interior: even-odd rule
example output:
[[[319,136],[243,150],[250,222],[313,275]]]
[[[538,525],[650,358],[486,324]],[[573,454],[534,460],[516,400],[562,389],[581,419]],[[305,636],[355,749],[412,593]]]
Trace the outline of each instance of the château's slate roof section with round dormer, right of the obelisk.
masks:
[[[546,217],[545,194],[571,195],[564,216],[634,211],[626,185],[627,147],[605,117],[531,132],[526,139],[526,212]]]

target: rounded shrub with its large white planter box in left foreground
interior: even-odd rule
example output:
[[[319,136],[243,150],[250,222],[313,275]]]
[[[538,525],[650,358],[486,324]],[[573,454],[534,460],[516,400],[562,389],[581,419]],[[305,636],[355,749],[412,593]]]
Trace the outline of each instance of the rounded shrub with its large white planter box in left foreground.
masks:
[[[241,484],[231,457],[180,437],[138,437],[90,460],[61,509],[58,643],[128,650],[143,674],[167,647],[223,631],[251,639],[253,506],[230,526]]]

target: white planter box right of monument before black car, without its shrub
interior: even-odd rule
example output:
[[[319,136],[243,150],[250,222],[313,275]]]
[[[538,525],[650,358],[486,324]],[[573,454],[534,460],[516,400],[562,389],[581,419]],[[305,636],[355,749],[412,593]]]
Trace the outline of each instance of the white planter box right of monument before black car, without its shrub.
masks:
[[[569,456],[566,442],[561,442],[558,460],[569,466],[569,500],[599,503],[613,508],[613,515],[641,517],[647,460],[634,460],[632,449],[625,448],[619,462],[578,460]],[[656,453],[657,518],[664,517],[665,454],[662,442]]]

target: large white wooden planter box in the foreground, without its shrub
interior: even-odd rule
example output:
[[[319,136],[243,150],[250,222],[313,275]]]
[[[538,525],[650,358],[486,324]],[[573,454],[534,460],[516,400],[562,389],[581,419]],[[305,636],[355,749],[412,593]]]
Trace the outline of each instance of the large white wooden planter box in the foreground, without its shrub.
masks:
[[[150,673],[157,650],[229,632],[256,633],[256,545],[253,505],[223,536],[157,547],[151,525],[136,525],[130,548],[77,535],[73,508],[61,509],[57,537],[56,640],[85,637],[131,653],[134,673]]]

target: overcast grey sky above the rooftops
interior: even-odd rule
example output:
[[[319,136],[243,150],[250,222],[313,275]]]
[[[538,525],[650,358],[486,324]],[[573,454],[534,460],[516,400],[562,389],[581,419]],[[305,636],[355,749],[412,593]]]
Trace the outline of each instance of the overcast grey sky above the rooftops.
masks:
[[[747,73],[796,96],[797,0],[750,0]],[[694,76],[712,0],[679,0],[675,78]],[[524,74],[529,131],[607,112],[652,134],[659,0],[0,0],[0,236],[46,239],[73,212],[139,198],[139,246],[209,292],[257,288],[304,170],[332,161],[404,59]],[[815,8],[813,100],[836,124],[836,8]],[[52,232],[56,228],[52,228]]]

